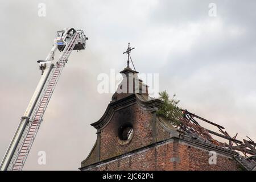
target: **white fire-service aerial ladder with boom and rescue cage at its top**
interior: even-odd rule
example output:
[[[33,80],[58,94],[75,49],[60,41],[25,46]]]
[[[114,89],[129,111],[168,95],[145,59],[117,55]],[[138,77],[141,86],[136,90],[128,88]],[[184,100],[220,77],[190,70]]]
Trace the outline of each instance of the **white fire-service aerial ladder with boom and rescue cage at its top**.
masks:
[[[22,170],[68,57],[73,50],[85,49],[86,40],[88,37],[82,30],[64,28],[64,30],[57,31],[57,37],[46,60],[38,61],[42,77],[2,160],[1,171]],[[57,49],[61,55],[57,61],[54,61]]]

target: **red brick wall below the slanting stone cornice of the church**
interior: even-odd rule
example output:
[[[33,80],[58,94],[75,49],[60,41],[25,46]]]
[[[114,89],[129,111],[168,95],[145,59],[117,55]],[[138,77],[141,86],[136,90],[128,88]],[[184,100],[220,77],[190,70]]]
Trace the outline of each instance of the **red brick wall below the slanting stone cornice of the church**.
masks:
[[[239,170],[227,156],[217,154],[217,164],[210,165],[209,152],[179,142],[166,142],[144,152],[117,159],[90,170]],[[176,162],[174,162],[176,159]]]

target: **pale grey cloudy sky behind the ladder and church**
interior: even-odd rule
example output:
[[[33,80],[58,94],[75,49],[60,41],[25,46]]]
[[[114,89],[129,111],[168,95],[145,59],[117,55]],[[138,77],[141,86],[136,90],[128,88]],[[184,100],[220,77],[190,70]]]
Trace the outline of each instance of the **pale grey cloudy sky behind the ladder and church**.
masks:
[[[46,16],[38,16],[45,3]],[[209,16],[209,4],[217,6]],[[159,73],[159,90],[179,106],[256,140],[256,2],[247,1],[0,1],[0,159],[38,84],[56,31],[74,27],[89,37],[73,52],[49,102],[24,169],[77,170],[96,140],[112,94],[97,92],[100,73],[126,65],[135,47],[137,71]],[[38,152],[46,151],[46,165]]]

